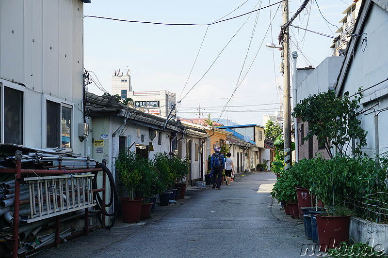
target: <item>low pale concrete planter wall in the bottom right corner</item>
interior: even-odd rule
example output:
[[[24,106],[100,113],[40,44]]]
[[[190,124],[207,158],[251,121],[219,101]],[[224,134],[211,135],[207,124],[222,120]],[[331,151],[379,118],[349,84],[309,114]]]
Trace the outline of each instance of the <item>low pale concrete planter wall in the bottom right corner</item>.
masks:
[[[374,247],[375,251],[384,249],[388,254],[388,225],[378,224],[352,217],[350,219],[349,237],[355,243],[364,242]]]

